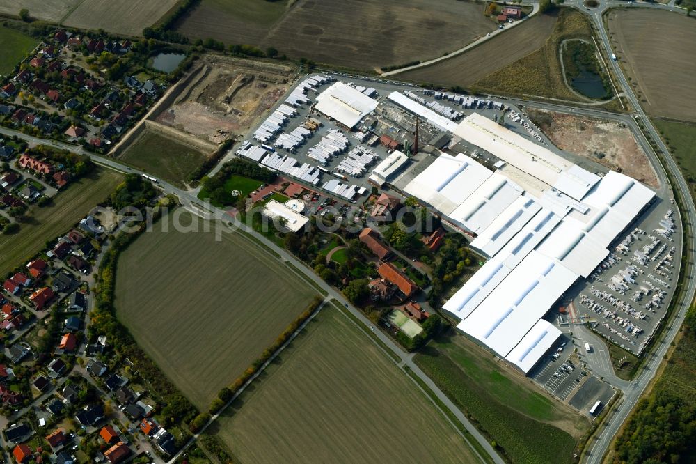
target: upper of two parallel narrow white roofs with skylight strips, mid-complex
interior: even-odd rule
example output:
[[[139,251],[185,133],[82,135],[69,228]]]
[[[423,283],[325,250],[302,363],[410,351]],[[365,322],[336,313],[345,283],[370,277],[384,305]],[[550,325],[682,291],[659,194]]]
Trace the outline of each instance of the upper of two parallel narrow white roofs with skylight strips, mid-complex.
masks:
[[[471,242],[471,247],[489,258],[495,256],[540,209],[530,196],[519,196]]]

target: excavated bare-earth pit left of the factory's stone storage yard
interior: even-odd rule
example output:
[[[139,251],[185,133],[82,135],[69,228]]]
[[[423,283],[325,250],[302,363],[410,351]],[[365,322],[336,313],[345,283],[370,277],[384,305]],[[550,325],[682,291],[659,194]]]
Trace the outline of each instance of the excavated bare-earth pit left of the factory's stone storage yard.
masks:
[[[293,72],[285,65],[208,56],[156,121],[216,143],[244,134],[285,94]]]

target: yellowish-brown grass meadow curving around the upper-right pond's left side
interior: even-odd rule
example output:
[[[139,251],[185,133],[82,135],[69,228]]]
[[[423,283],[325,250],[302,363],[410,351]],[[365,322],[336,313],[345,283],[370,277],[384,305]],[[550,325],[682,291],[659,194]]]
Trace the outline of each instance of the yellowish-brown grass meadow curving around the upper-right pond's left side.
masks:
[[[478,80],[471,87],[477,91],[491,93],[587,100],[571,91],[565,84],[559,47],[563,40],[570,38],[592,40],[590,21],[583,13],[569,8],[560,8],[550,14],[557,15],[557,21],[553,32],[541,48]]]

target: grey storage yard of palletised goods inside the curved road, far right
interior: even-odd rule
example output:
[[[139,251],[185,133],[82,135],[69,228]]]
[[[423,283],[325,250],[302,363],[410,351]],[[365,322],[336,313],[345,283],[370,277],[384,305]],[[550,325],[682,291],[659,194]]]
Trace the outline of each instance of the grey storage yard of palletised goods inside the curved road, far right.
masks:
[[[576,318],[635,355],[647,346],[674,293],[681,259],[674,210],[671,201],[656,200],[574,290]]]

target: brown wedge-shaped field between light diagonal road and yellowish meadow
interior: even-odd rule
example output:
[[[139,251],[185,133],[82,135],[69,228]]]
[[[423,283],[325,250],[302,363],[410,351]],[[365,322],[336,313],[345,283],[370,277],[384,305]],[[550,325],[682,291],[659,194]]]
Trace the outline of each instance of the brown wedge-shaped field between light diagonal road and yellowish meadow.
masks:
[[[555,16],[536,15],[466,53],[398,76],[427,84],[468,87],[541,48],[555,22]]]

